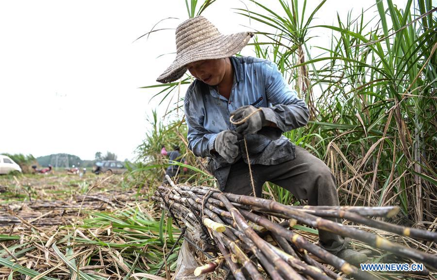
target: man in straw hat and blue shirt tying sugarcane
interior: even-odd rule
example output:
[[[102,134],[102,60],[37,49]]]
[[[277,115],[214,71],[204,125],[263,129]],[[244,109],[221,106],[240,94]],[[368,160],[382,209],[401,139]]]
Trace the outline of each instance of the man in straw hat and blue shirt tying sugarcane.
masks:
[[[222,35],[202,16],[176,29],[176,59],[157,81],[175,81],[186,70],[196,78],[185,95],[188,148],[212,159],[221,191],[253,195],[250,163],[257,197],[270,181],[309,205],[339,205],[329,168],[282,135],[306,125],[305,102],[273,63],[233,56],[252,35]],[[365,254],[347,248],[347,238],[334,233],[319,231],[319,242],[351,264],[367,260]]]

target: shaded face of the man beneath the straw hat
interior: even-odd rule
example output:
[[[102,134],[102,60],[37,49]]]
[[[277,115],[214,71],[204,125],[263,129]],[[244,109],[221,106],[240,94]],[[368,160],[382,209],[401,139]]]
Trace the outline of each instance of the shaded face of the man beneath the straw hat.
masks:
[[[223,80],[226,71],[226,60],[223,58],[205,59],[189,63],[186,68],[196,79],[209,85],[218,85]]]

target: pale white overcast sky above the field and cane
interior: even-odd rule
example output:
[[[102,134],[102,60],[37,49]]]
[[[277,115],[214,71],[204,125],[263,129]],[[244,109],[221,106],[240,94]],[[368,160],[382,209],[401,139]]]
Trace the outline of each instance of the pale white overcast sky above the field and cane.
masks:
[[[278,7],[275,0],[261,2]],[[406,0],[393,2],[402,7]],[[307,11],[318,3],[308,1]],[[337,12],[344,19],[351,9],[358,15],[374,3],[327,0],[315,24],[332,24]],[[232,9],[246,5],[254,6],[217,0],[202,15],[221,33],[261,30]],[[169,30],[135,40],[165,18],[156,28]],[[173,61],[174,28],[187,18],[184,0],[0,0],[0,153],[90,160],[111,151],[134,159],[152,110],[165,121],[168,107],[151,99],[156,89],[140,87],[156,84]],[[328,33],[313,35],[328,42]]]

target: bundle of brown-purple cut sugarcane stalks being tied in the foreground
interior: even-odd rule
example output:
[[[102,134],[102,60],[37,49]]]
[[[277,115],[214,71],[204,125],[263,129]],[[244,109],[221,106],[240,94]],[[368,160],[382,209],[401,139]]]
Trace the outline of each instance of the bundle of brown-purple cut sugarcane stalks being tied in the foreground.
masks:
[[[374,275],[348,264],[291,230],[297,222],[362,241],[371,247],[422,263],[433,270],[437,268],[435,255],[404,247],[374,233],[326,219],[347,219],[403,236],[437,241],[436,232],[369,218],[391,217],[399,212],[398,207],[287,206],[263,198],[221,193],[209,187],[175,185],[171,181],[170,183],[171,187],[158,187],[156,196],[152,199],[160,202],[161,208],[168,211],[183,232],[189,231],[191,236],[202,239],[204,246],[199,247],[198,243],[187,238],[185,240],[203,252],[208,251],[210,255],[216,255],[214,261],[196,269],[197,275],[213,271],[224,259],[236,280],[264,279],[256,262],[252,261],[256,258],[264,272],[273,280],[344,279],[312,258],[310,253],[324,263],[331,264],[346,277],[375,279]],[[275,223],[272,220],[278,219],[271,217],[284,221]],[[275,246],[263,239],[267,235],[274,239]],[[221,253],[221,257],[218,253]],[[427,273],[426,270],[424,272]]]

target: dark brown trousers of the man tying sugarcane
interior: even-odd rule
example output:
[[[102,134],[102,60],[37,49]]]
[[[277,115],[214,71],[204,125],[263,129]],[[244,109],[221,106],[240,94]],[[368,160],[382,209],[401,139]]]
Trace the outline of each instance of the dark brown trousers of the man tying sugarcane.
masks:
[[[290,191],[298,199],[308,200],[309,205],[340,205],[334,175],[325,163],[304,148],[296,146],[294,160],[278,165],[251,165],[251,168],[257,197],[261,197],[262,187],[269,181]],[[243,160],[232,165],[224,192],[252,195],[249,166]],[[349,238],[319,231],[319,243],[336,254],[348,246]]]

